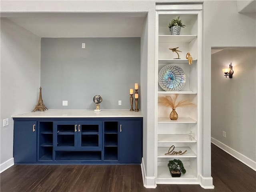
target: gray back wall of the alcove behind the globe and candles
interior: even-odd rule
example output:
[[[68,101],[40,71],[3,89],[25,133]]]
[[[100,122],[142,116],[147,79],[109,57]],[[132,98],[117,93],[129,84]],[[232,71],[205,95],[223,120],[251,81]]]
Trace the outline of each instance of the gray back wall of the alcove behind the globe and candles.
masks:
[[[94,109],[95,95],[102,96],[100,109],[130,109],[134,83],[140,89],[140,38],[41,38],[42,98],[48,109]]]

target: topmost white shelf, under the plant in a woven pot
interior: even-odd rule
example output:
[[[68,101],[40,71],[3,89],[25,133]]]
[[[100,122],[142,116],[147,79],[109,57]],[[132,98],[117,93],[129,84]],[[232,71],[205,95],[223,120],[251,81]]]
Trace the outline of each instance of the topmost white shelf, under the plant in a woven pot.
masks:
[[[190,43],[197,35],[159,35],[158,43]]]

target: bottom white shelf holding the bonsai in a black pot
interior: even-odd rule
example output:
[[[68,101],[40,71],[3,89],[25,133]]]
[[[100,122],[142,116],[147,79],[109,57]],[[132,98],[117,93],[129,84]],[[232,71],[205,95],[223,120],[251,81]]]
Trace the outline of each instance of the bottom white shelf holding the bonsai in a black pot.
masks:
[[[168,162],[166,162],[166,166],[158,166],[158,172],[157,172],[157,183],[158,184],[184,184],[184,182],[186,182],[186,184],[188,182],[194,182],[197,183],[197,176],[196,173],[192,170],[192,168],[187,165],[184,166],[184,168],[186,169],[186,173],[185,174],[181,174],[180,177],[172,177],[172,175],[170,174],[170,171],[167,167]]]

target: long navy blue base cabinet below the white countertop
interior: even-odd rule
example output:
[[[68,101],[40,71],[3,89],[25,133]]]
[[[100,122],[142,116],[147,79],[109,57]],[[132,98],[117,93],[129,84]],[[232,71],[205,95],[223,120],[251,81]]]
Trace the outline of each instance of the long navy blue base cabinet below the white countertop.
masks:
[[[16,164],[140,164],[142,118],[14,118]]]

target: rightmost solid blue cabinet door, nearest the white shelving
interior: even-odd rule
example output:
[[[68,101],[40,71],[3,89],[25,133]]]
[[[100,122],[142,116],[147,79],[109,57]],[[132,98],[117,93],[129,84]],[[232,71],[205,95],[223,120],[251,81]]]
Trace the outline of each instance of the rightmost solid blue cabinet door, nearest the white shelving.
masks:
[[[140,164],[142,158],[142,122],[119,122],[119,162]]]

